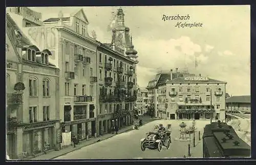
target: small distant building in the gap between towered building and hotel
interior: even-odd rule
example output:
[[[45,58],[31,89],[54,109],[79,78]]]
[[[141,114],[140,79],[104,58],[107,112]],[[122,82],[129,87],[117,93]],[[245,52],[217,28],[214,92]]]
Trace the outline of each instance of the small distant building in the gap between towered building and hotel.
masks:
[[[137,101],[136,101],[136,106],[137,106],[137,109],[138,109],[138,115],[147,114],[147,105],[148,105],[147,89],[139,88],[137,90]]]

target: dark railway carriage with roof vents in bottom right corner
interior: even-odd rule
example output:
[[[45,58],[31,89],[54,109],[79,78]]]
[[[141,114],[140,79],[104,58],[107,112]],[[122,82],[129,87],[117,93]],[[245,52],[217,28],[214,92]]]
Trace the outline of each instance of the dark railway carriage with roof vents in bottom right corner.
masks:
[[[203,133],[203,157],[250,157],[250,146],[233,127],[221,121],[208,124]]]

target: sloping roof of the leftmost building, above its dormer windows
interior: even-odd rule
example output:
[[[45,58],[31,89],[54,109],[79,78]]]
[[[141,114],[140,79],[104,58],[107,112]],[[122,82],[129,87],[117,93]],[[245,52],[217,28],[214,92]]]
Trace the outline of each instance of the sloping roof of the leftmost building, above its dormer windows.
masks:
[[[22,31],[18,28],[17,24],[8,13],[6,14],[6,19],[7,19],[7,28],[9,32],[11,32],[11,29],[14,29],[19,31],[22,34],[22,36],[20,36],[22,46],[33,45],[29,41],[29,39],[22,33]]]

